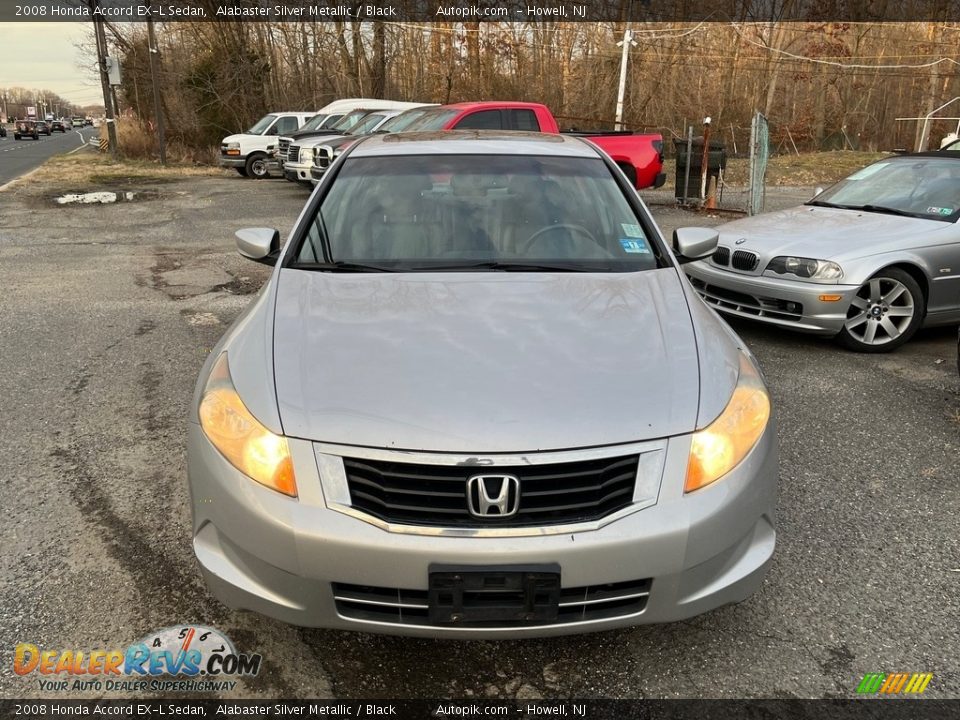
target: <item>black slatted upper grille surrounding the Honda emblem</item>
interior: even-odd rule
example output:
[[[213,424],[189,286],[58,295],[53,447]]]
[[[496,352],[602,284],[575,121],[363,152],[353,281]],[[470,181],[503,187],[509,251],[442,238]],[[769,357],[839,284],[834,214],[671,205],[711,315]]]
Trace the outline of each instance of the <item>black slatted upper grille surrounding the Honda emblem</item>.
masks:
[[[637,455],[550,465],[414,465],[344,458],[354,508],[403,525],[528,527],[599,520],[633,499]],[[474,517],[467,479],[514,475],[520,505],[509,517]]]

